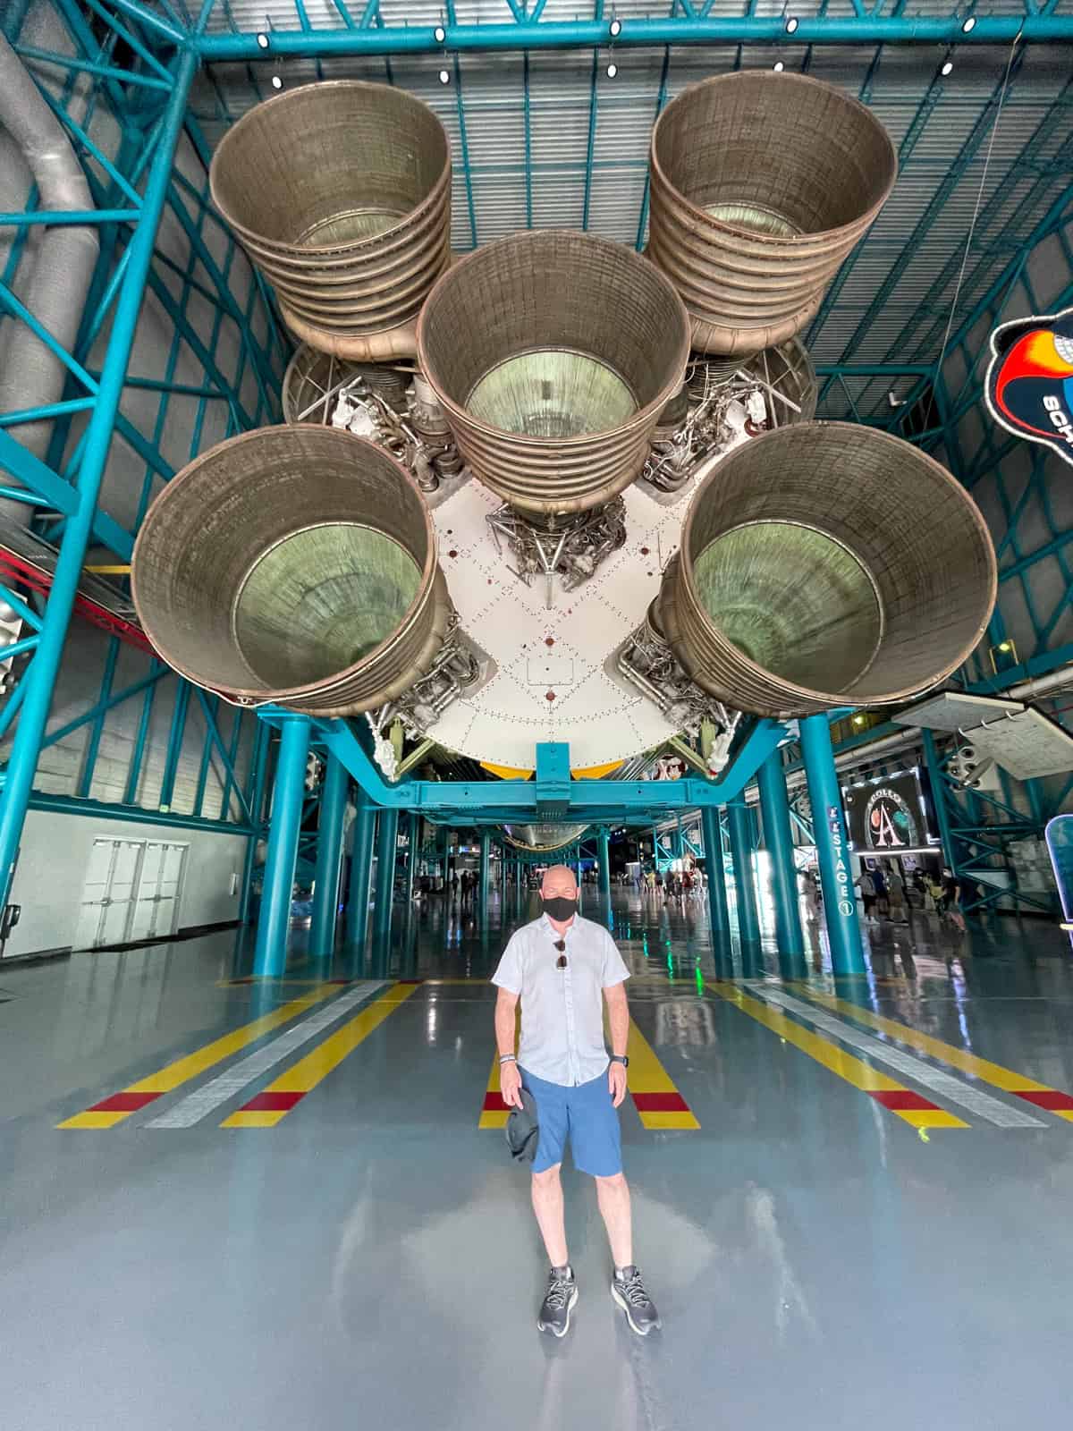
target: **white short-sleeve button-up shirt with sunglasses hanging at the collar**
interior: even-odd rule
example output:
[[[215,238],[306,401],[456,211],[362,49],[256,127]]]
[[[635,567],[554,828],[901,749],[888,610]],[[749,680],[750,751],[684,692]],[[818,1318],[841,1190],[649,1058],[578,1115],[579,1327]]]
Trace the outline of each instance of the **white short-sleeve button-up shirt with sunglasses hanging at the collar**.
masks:
[[[567,942],[567,967],[557,969]],[[629,977],[611,934],[602,924],[574,916],[559,936],[541,914],[511,934],[492,983],[521,995],[522,1040],[518,1062],[548,1083],[577,1086],[607,1072],[604,989]]]

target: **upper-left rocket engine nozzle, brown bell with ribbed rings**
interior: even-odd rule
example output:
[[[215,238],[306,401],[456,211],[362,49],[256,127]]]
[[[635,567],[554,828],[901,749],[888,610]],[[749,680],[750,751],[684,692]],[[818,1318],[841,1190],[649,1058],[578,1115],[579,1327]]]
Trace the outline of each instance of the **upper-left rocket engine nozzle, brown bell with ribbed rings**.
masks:
[[[265,100],[227,130],[212,197],[323,352],[413,353],[413,321],[451,260],[451,145],[405,90],[329,80]]]

